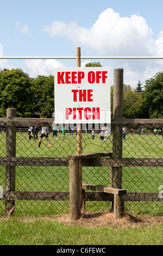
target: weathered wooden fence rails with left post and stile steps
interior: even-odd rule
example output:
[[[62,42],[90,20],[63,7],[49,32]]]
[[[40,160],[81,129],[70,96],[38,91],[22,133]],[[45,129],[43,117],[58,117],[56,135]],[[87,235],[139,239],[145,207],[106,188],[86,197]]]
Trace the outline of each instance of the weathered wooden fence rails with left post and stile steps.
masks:
[[[14,112],[12,112],[14,111]],[[163,159],[137,159],[137,158],[122,158],[116,157],[112,152],[93,153],[93,154],[77,154],[68,155],[67,157],[16,157],[16,127],[27,126],[52,126],[54,119],[30,119],[30,118],[16,118],[15,110],[10,110],[7,118],[0,118],[0,125],[6,126],[7,131],[7,154],[5,157],[0,157],[0,165],[6,168],[5,191],[3,191],[3,198],[5,200],[5,214],[15,214],[15,200],[68,200],[70,204],[74,202],[76,197],[77,208],[73,210],[72,220],[80,216],[80,205],[78,202],[79,193],[74,194],[74,187],[78,190],[78,186],[74,186],[74,180],[78,183],[78,162],[82,160],[83,167],[162,167]],[[157,127],[163,126],[163,119],[112,119],[112,127],[134,126],[134,127]],[[70,167],[70,163],[76,162],[76,168]],[[15,191],[15,172],[16,166],[69,166],[70,170],[70,192],[40,192],[40,191]],[[73,169],[73,175],[71,170]],[[117,169],[118,170],[118,169]],[[132,202],[162,202],[159,198],[159,193],[128,193],[123,190],[123,197],[120,196],[120,187],[100,187],[92,184],[82,184],[84,190],[90,192],[83,193],[83,200],[93,201],[110,201],[116,202],[114,204],[114,214],[118,217],[123,212],[124,201]],[[96,192],[95,192],[96,191]],[[110,193],[109,191],[112,191]],[[120,196],[121,198],[117,197]],[[125,197],[124,197],[125,195]],[[73,198],[73,199],[71,199]],[[120,208],[116,208],[120,205]],[[71,206],[74,208],[73,206]],[[13,210],[14,209],[14,210]],[[72,208],[71,208],[72,209]],[[75,214],[74,214],[75,212]],[[75,216],[75,217],[74,217]]]

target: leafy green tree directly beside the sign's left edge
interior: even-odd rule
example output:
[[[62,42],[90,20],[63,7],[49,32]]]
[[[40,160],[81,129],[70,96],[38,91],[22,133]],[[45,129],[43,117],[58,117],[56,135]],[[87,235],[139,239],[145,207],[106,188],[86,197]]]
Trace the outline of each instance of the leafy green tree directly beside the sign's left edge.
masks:
[[[52,118],[54,112],[54,76],[37,76],[32,82],[35,114]]]

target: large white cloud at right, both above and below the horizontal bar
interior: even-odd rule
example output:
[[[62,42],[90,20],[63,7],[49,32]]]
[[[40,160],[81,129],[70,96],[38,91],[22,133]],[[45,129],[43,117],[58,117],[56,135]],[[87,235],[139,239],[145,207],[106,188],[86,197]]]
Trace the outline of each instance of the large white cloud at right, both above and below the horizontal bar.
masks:
[[[111,8],[104,10],[90,28],[79,27],[76,22],[54,21],[42,31],[50,36],[64,36],[76,45],[95,51],[97,56],[163,56],[163,31],[154,40],[153,31],[143,17],[121,17]],[[133,88],[139,80],[145,83],[163,69],[163,60],[120,60],[118,63],[119,68],[124,68],[124,82]]]

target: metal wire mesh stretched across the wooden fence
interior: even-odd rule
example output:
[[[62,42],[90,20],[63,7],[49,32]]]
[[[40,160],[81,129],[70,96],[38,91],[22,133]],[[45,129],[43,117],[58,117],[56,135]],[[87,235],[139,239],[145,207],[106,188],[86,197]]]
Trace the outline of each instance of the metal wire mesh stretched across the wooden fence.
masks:
[[[93,137],[91,130],[82,130],[82,154],[112,151],[112,129],[109,137],[104,136],[104,138],[100,137],[101,130],[95,130]],[[40,136],[41,133],[34,133],[34,130],[31,132],[26,124],[20,127],[8,123],[0,127],[0,216],[5,215],[8,190],[27,194],[25,200],[21,198],[23,193],[20,198],[17,193],[14,209],[16,216],[54,216],[70,211],[70,202],[66,199],[69,192],[69,168],[66,158],[67,155],[77,154],[77,131],[67,129],[63,135],[61,129],[58,129],[57,135],[54,135],[52,127],[49,126],[49,141],[46,137],[42,137],[40,144]],[[140,123],[136,127],[127,127],[126,134],[122,137],[122,160],[125,161],[124,163],[121,161],[121,187],[127,190],[124,211],[133,214],[162,215],[162,145],[162,125],[155,123],[149,128]],[[51,158],[55,159],[56,166],[47,164],[48,159]],[[33,163],[33,159],[37,159],[37,162]],[[136,159],[136,165],[131,166],[130,162],[126,163],[127,159],[131,162]],[[146,164],[146,161],[142,162],[141,159],[149,159],[149,161]],[[24,162],[25,160],[27,162]],[[101,162],[103,164],[99,166],[97,164],[96,167],[82,166],[84,184],[111,186],[111,168],[105,164],[105,158],[102,157]],[[12,172],[8,172],[9,169],[10,171],[12,169]],[[13,174],[15,184],[12,184],[12,177],[10,177],[11,184],[8,184],[8,173]],[[2,196],[2,191],[5,197]],[[34,196],[32,192],[36,192]],[[51,196],[52,192],[56,192],[55,198],[53,194]],[[150,195],[152,199],[143,198]],[[9,202],[12,200],[10,194]],[[110,209],[111,202],[89,200],[85,202],[85,210],[88,211]]]

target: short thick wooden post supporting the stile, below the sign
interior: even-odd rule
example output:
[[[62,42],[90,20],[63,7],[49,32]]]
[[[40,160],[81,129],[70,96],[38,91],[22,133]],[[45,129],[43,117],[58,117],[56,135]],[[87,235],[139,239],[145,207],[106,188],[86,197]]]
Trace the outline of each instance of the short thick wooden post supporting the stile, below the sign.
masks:
[[[79,182],[79,160],[69,161],[70,180],[70,218],[76,221],[80,218],[80,182]]]

